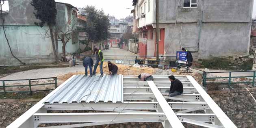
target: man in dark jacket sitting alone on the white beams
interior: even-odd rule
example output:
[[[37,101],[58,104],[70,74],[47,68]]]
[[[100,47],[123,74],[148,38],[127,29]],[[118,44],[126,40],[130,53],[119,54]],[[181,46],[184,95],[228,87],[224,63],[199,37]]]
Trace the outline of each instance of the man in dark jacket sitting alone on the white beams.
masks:
[[[169,92],[169,97],[181,95],[183,93],[182,82],[180,82],[180,80],[176,79],[174,76],[169,76],[169,80],[171,81],[171,87],[170,90],[166,90],[166,92]]]

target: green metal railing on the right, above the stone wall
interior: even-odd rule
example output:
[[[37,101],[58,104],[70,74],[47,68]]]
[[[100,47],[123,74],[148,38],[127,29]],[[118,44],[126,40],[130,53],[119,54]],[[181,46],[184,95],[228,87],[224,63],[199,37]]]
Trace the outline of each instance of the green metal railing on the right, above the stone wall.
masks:
[[[207,77],[207,74],[227,74],[227,77]],[[252,75],[249,76],[232,76],[232,74],[234,73],[251,73]],[[209,79],[227,79],[228,78],[228,82],[221,82],[221,84],[228,84],[228,85],[234,85],[234,84],[240,84],[240,83],[247,83],[247,84],[252,84],[252,86],[255,86],[255,75],[256,75],[256,71],[232,71],[232,72],[204,72],[203,74],[203,85],[206,86],[207,83],[206,81]],[[250,81],[245,81],[245,82],[232,82],[231,79],[232,78],[252,78],[252,80]]]

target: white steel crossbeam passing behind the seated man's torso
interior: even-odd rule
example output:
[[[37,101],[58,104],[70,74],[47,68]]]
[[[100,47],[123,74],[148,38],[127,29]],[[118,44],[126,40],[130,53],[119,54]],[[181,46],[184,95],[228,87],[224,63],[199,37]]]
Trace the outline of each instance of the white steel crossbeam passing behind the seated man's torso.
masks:
[[[157,81],[154,82],[156,84],[156,87],[170,87],[171,86],[171,82],[167,81],[167,82],[161,82],[161,81]],[[182,82],[183,87],[193,87],[193,85],[191,84],[191,82]],[[149,87],[148,83],[146,81],[130,81],[130,82],[124,82],[124,87]]]

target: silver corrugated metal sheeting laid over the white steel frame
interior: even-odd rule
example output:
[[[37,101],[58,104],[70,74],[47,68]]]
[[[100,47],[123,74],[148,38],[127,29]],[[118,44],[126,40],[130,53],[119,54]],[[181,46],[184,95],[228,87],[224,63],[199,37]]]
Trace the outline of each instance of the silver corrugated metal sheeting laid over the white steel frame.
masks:
[[[45,103],[124,102],[122,75],[77,75]]]

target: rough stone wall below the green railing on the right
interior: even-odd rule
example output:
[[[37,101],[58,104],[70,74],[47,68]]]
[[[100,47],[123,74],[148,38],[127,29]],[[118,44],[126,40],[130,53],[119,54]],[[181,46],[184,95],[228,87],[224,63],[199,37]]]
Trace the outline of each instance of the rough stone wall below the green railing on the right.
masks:
[[[256,97],[256,88],[248,88]],[[208,94],[238,128],[256,128],[256,102],[244,89],[209,91]]]

